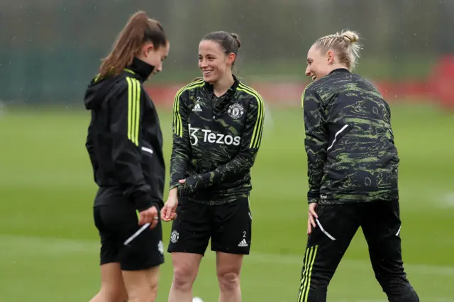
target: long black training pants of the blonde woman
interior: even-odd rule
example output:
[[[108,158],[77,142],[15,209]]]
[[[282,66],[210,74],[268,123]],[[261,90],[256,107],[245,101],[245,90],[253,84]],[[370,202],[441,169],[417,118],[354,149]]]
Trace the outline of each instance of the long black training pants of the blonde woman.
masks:
[[[402,262],[399,201],[319,205],[308,237],[298,302],[326,302],[328,284],[361,226],[377,281],[390,302],[418,302]]]

